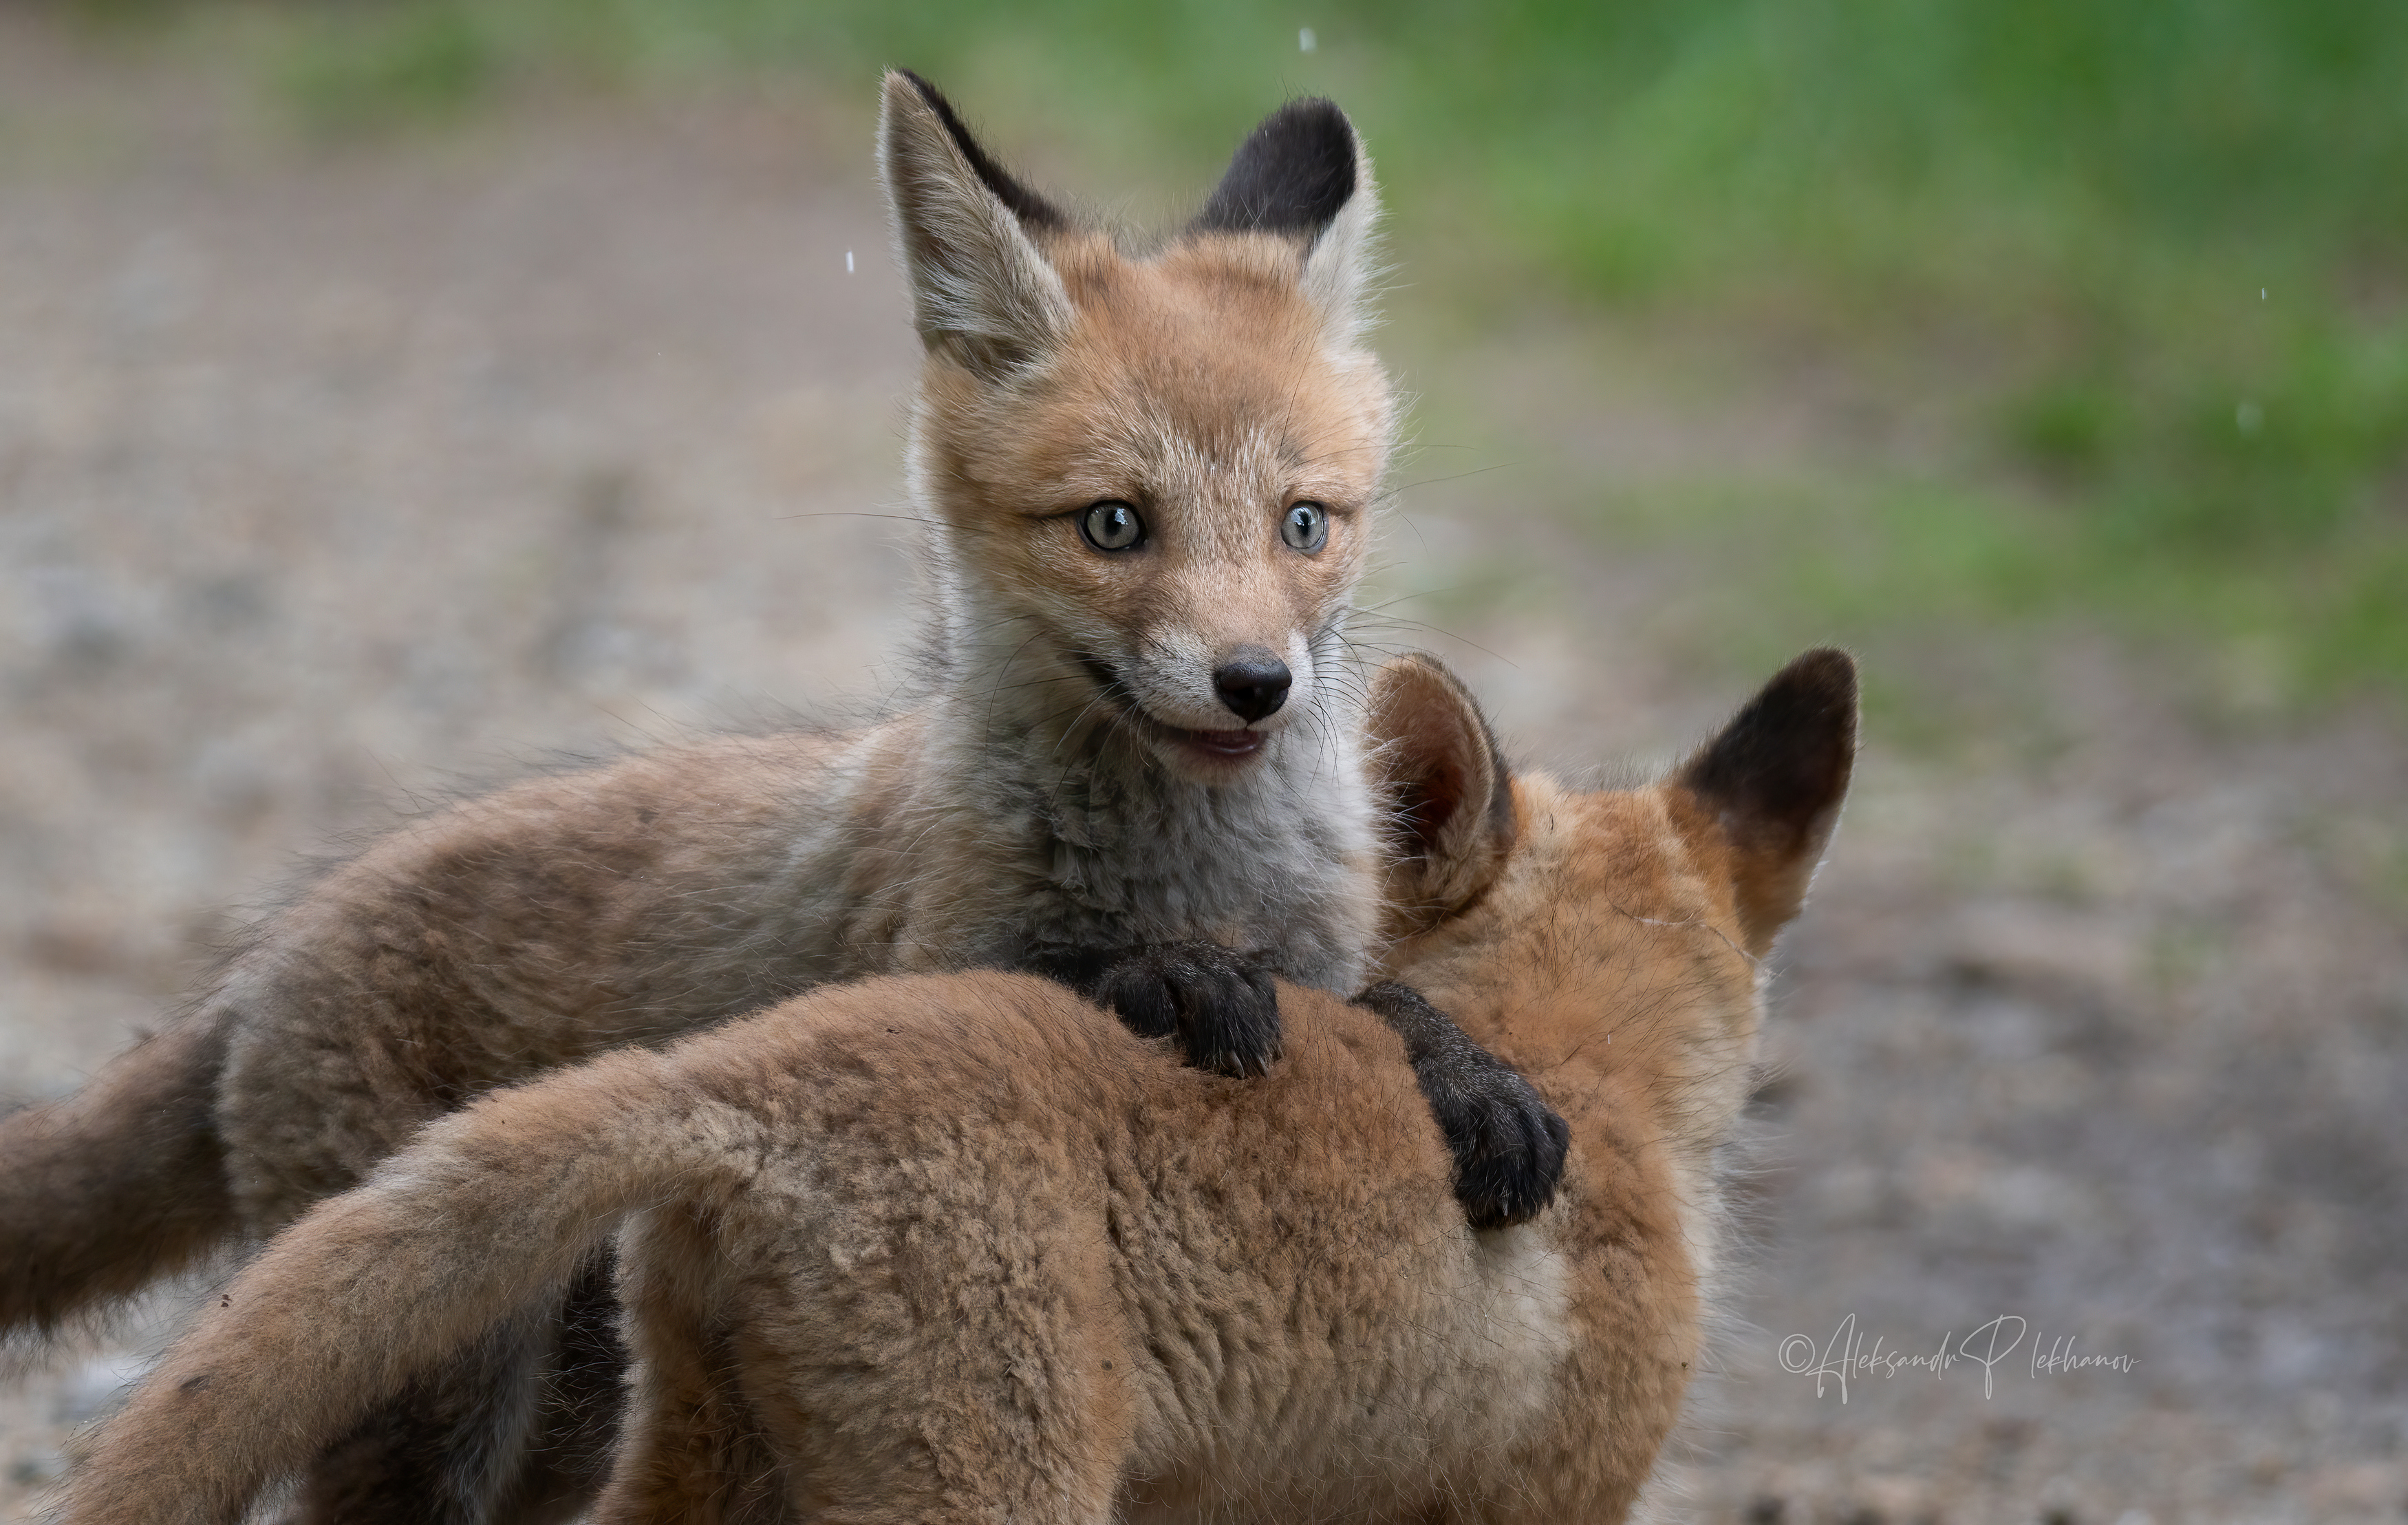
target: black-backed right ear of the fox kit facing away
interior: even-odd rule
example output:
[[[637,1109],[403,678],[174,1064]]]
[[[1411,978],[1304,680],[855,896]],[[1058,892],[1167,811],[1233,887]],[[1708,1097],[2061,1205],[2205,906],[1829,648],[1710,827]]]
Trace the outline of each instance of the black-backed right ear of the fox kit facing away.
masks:
[[[1806,903],[1854,764],[1857,660],[1825,646],[1782,667],[1674,776],[1731,848],[1751,954],[1763,956]]]

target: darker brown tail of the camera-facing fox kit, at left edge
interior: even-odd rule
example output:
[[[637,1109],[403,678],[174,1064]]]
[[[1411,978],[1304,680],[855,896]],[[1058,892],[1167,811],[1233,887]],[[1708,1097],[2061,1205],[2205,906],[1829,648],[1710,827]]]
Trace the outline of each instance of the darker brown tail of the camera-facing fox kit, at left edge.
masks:
[[[234,1233],[224,1053],[217,1021],[183,1021],[75,1096],[0,1118],[0,1339],[53,1335]]]

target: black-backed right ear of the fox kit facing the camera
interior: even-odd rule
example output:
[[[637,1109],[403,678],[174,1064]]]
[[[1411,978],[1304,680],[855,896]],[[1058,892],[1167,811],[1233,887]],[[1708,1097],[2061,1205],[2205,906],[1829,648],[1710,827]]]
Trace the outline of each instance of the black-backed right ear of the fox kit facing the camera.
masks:
[[[1332,101],[1288,101],[1238,145],[1199,234],[1283,234],[1305,243],[1303,289],[1351,340],[1368,313],[1380,188],[1353,123]]]

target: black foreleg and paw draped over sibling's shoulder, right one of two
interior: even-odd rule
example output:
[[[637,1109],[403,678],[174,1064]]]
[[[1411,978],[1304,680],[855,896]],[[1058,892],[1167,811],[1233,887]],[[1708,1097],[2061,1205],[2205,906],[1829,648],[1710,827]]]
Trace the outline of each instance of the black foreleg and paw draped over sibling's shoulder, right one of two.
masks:
[[[1556,1108],[1418,990],[1382,983],[1358,995],[1356,1005],[1404,1036],[1413,1079],[1454,1154],[1454,1200],[1471,1226],[1510,1229],[1539,1217],[1556,1200],[1572,1140]]]

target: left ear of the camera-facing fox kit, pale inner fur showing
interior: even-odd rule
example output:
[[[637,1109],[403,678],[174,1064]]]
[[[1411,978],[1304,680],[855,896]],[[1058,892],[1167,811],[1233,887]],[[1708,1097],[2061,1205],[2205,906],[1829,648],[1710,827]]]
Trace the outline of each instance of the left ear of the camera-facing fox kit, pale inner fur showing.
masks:
[[[1004,173],[910,70],[886,75],[879,169],[920,340],[990,378],[1052,349],[1072,323],[1069,292],[1031,234],[1069,219]]]

